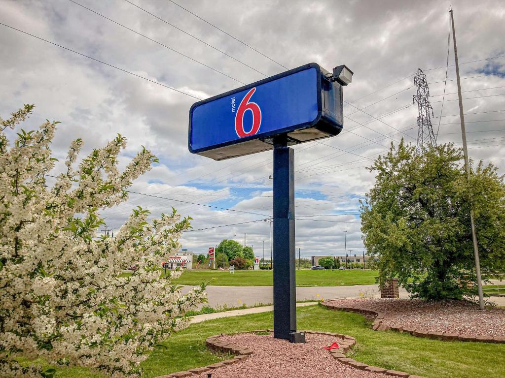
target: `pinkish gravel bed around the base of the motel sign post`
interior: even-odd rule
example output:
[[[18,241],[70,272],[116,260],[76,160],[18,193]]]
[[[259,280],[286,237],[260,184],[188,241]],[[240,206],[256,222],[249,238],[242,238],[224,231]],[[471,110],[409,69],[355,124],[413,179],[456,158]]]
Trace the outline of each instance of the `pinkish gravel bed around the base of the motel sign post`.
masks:
[[[240,363],[213,369],[212,378],[384,378],[384,374],[359,370],[334,359],[323,347],[339,340],[328,335],[306,334],[307,343],[291,344],[272,335],[223,335],[219,340],[254,350]],[[207,372],[192,375],[207,378]]]

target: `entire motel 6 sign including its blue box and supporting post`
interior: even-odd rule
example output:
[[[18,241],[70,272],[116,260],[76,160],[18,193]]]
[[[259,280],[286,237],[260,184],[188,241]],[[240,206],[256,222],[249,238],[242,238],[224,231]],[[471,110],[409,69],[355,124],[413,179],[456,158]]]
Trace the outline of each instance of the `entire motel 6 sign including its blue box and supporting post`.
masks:
[[[294,150],[338,135],[342,86],[352,72],[315,63],[199,101],[189,110],[189,151],[214,160],[274,150],[274,337],[305,342],[296,331]],[[210,255],[210,254],[209,254]]]

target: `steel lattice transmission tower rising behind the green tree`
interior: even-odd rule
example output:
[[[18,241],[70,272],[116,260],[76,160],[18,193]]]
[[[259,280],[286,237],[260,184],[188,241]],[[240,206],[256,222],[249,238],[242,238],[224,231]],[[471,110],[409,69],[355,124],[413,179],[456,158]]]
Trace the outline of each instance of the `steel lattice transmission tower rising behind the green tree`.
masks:
[[[419,110],[416,152],[423,154],[427,146],[436,146],[437,143],[431,124],[430,113],[433,115],[433,108],[430,104],[430,89],[428,88],[426,74],[421,69],[418,69],[414,76],[414,84],[416,84],[417,95],[414,95],[413,102],[414,100],[417,102]]]

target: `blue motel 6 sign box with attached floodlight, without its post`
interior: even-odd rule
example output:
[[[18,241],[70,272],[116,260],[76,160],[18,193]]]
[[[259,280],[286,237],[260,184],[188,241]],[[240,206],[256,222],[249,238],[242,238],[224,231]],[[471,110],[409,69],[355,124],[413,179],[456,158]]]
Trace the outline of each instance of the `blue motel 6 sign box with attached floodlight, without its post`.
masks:
[[[342,85],[352,75],[339,67],[340,78],[311,63],[196,102],[189,111],[189,151],[223,160],[271,150],[276,135],[287,135],[288,145],[337,135]]]

